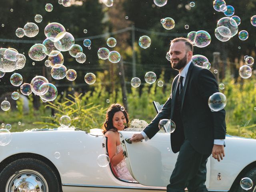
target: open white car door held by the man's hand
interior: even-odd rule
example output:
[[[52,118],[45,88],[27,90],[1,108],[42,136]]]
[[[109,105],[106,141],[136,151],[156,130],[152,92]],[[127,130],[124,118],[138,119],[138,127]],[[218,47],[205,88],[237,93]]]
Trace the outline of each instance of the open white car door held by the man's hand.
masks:
[[[157,133],[152,139],[129,144],[126,138],[138,132],[120,131],[122,148],[126,152],[126,164],[132,176],[146,186],[167,186],[178,153],[174,154],[170,134]],[[210,158],[207,163],[206,187],[209,186]]]

